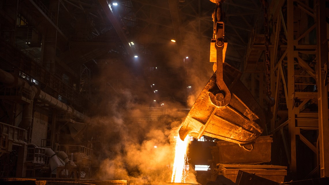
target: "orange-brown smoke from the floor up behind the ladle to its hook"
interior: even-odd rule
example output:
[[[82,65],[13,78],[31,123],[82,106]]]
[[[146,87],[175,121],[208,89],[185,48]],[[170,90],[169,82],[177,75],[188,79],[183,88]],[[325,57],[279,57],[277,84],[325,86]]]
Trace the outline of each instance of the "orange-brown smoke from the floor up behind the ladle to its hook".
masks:
[[[194,25],[194,22],[189,24]],[[94,154],[98,157],[95,166],[99,168],[92,174],[95,178],[127,180],[129,184],[171,181],[174,137],[214,73],[213,63],[209,62],[210,40],[195,34],[187,34],[185,38],[196,41],[194,48],[208,46],[196,49],[208,52],[190,50],[189,59],[179,62],[180,69],[184,70],[183,84],[191,86],[185,93],[186,104],[164,99],[164,106],[159,106],[159,102],[153,102],[155,95],[149,93],[150,82],[145,83],[139,74],[141,71],[132,71],[125,67],[128,64],[120,61],[102,67],[100,75],[94,79],[102,95],[98,107],[93,110],[98,116],[89,124],[89,139],[94,141]],[[189,40],[184,40],[183,45],[187,42]],[[192,168],[187,182],[197,183]]]

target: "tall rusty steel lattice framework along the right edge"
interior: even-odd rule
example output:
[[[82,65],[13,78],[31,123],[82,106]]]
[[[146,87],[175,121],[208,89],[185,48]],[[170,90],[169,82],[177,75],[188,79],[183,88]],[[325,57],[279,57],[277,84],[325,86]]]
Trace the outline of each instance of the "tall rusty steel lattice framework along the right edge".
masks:
[[[321,0],[281,0],[272,1],[268,7],[268,22],[272,23],[270,89],[275,104],[270,109],[273,118],[267,130],[281,135],[292,177],[302,172],[303,158],[300,156],[303,151],[313,153],[317,161],[312,165],[314,170],[305,172],[309,174],[306,177],[329,175],[326,3]],[[249,87],[263,104],[266,103],[261,98],[265,96],[262,90],[266,86],[262,74],[265,47],[259,45],[261,42],[257,43],[259,37],[256,33],[249,42],[243,77],[251,76]],[[259,86],[255,82],[259,82]],[[302,145],[309,149],[302,149]]]

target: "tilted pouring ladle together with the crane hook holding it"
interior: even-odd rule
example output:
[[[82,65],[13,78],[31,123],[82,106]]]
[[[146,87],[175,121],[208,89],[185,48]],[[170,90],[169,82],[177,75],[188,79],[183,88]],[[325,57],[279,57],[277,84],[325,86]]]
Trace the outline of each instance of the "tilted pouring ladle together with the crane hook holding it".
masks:
[[[252,150],[255,139],[265,128],[265,114],[240,81],[240,71],[224,63],[227,42],[224,39],[225,27],[221,11],[223,0],[210,1],[216,3],[210,54],[211,60],[215,58],[215,73],[193,104],[179,135],[182,140],[187,135],[196,138],[206,135],[238,143],[245,150]]]

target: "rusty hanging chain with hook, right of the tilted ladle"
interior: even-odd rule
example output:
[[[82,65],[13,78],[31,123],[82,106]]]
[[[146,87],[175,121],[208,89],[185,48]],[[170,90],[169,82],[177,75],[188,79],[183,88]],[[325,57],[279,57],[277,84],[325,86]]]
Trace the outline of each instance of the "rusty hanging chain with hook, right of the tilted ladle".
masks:
[[[266,64],[266,96],[269,99],[269,106],[274,105],[274,98],[271,97],[270,90],[270,61],[269,61],[269,50],[268,50],[268,42],[269,42],[269,33],[268,33],[268,16],[267,16],[267,0],[262,0],[263,10],[264,10],[264,36],[265,36],[265,64]]]

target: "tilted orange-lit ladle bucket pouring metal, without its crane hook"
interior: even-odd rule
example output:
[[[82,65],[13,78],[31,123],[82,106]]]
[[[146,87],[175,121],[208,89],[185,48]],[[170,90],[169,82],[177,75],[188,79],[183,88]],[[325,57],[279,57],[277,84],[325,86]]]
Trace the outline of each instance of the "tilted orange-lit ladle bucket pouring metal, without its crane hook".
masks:
[[[179,130],[182,140],[187,135],[219,138],[240,146],[253,144],[265,127],[265,115],[249,90],[240,81],[241,73],[223,63],[223,80],[231,93],[228,105],[220,107],[213,102],[221,93],[216,84],[216,73],[211,77],[193,104]]]

